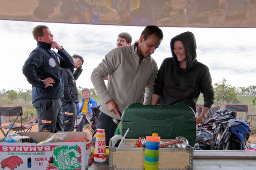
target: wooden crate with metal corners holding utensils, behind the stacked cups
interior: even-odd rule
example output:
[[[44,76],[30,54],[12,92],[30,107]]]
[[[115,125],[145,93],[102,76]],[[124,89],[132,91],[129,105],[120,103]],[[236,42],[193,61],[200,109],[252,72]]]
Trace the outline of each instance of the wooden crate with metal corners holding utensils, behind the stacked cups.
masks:
[[[126,146],[132,146],[134,139],[125,140]],[[144,169],[145,148],[115,148],[110,147],[110,170]],[[193,167],[193,148],[160,148],[159,170],[187,170]]]

